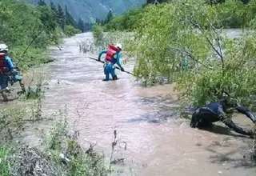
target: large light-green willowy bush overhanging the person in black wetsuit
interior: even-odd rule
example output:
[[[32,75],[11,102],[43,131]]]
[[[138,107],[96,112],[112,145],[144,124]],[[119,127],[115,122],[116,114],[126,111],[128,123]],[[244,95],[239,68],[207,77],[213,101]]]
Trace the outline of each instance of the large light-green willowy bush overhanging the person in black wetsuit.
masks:
[[[216,29],[231,2],[218,8],[198,0],[146,6],[126,47],[137,58],[136,77],[148,84],[157,82],[158,76],[176,82],[182,100],[193,106],[216,100],[227,90],[244,105],[255,108],[256,36],[244,33],[240,38],[227,38],[225,32]],[[250,3],[246,6],[252,8]],[[254,20],[249,22],[243,20],[241,24],[254,24]],[[178,69],[184,58],[190,61],[186,71]]]

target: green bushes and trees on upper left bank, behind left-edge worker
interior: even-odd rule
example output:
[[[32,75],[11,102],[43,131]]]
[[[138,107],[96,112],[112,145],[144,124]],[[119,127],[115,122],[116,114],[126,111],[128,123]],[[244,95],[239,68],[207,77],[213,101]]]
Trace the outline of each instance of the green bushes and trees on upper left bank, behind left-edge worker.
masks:
[[[2,0],[0,8],[0,18],[4,19],[0,26],[0,41],[9,46],[14,62],[25,70],[48,62],[47,47],[61,42],[61,28],[66,26],[66,15],[61,6],[57,9],[54,3],[46,6],[43,1],[38,6],[31,6],[23,1]],[[70,14],[67,16],[70,18]],[[70,26],[67,28],[68,35],[78,33]]]

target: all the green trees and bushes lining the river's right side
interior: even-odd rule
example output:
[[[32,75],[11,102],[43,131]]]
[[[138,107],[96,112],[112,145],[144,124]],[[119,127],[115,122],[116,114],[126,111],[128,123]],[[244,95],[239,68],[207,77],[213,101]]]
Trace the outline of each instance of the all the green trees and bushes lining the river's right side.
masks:
[[[122,42],[125,53],[136,58],[137,80],[146,86],[163,78],[175,83],[182,107],[203,106],[227,91],[256,110],[255,7],[256,1],[237,0],[148,4],[95,24],[95,45]],[[240,28],[242,34],[229,38],[225,33],[229,28]],[[131,33],[125,37],[127,31]],[[81,47],[85,52],[84,43]],[[180,67],[184,58],[189,59],[186,70]],[[254,141],[250,150],[254,155],[255,146]]]

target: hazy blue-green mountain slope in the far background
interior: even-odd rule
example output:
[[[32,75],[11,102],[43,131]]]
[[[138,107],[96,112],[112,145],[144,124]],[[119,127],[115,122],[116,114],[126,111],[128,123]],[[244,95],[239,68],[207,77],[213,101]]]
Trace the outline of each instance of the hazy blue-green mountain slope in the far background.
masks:
[[[26,0],[37,3],[38,0]],[[106,18],[111,9],[113,14],[122,14],[136,6],[142,6],[146,0],[45,0],[54,2],[62,7],[67,6],[74,18],[81,18],[84,22],[93,22],[95,18]]]

